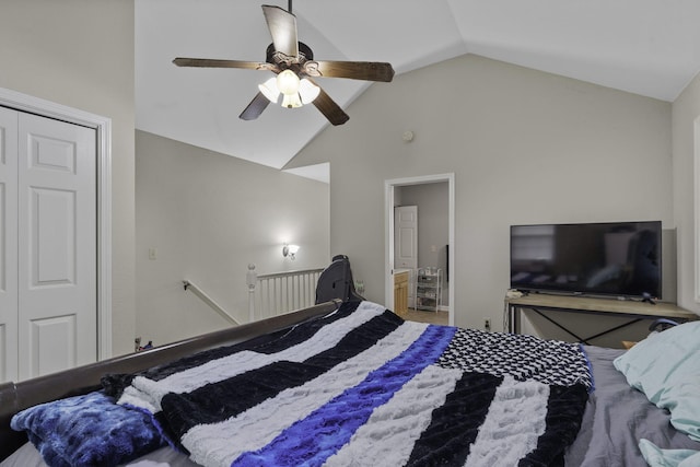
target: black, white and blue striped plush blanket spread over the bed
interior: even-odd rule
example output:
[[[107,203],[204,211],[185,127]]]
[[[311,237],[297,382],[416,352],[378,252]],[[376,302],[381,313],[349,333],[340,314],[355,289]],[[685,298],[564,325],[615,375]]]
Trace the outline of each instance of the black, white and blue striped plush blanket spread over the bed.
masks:
[[[560,464],[592,381],[578,345],[362,302],[104,385],[206,466],[491,467]]]

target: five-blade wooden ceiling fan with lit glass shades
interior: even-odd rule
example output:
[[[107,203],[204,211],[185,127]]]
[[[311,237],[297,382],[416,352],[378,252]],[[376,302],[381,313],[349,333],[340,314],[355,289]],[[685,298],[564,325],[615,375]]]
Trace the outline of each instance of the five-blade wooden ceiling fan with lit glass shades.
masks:
[[[270,102],[277,103],[282,94],[282,106],[294,108],[313,103],[332,125],[342,125],[350,118],[312,78],[350,78],[364,81],[390,82],[394,69],[390,63],[374,61],[314,60],[314,52],[296,36],[296,16],[289,11],[264,4],[262,12],[272,36],[265,62],[220,60],[207,58],[183,58],[173,60],[178,67],[243,68],[269,70],[277,77],[258,85],[259,92],[240,115],[244,120],[254,120],[262,114]]]

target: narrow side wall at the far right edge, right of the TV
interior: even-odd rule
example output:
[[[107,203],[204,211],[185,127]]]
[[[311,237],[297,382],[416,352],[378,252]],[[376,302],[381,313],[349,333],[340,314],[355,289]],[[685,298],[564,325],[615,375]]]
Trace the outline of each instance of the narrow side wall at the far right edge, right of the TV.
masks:
[[[700,206],[693,202],[693,122],[700,117],[700,75],[696,77],[673,105],[674,217],[678,248],[678,304],[700,314],[695,301],[695,222]]]

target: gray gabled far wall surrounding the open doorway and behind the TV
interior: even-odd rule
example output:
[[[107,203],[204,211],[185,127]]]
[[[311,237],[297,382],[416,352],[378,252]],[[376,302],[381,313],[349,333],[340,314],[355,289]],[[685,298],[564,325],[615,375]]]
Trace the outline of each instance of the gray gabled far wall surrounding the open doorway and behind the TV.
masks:
[[[510,224],[673,226],[669,103],[467,55],[373,84],[347,112],[289,165],[330,161],[331,253],[370,300],[384,296],[388,178],[455,173],[458,326],[500,328]]]

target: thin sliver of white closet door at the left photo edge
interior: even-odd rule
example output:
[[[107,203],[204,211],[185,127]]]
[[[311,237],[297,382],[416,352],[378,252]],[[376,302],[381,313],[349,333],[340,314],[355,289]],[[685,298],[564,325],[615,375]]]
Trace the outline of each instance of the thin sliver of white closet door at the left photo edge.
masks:
[[[0,382],[18,375],[18,113],[0,107]]]

